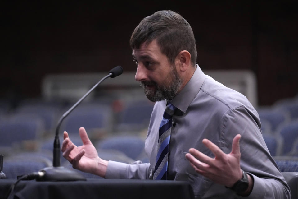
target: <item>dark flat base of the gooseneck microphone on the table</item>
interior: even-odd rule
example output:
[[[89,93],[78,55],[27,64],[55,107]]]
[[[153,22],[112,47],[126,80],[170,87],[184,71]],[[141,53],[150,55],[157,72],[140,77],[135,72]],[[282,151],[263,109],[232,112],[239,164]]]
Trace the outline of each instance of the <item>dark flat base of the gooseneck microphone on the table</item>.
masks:
[[[86,180],[86,178],[70,169],[65,167],[46,167],[40,170],[44,173],[44,176],[36,179],[37,181],[77,181]]]

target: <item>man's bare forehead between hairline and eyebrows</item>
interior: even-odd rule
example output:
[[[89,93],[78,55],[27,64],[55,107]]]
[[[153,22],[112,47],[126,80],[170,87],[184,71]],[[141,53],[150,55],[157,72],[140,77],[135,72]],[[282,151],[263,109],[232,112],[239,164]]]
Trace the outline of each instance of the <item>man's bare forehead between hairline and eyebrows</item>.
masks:
[[[150,43],[144,42],[140,45],[140,48],[133,49],[133,57],[155,57],[163,54],[160,46],[157,44],[156,39]]]

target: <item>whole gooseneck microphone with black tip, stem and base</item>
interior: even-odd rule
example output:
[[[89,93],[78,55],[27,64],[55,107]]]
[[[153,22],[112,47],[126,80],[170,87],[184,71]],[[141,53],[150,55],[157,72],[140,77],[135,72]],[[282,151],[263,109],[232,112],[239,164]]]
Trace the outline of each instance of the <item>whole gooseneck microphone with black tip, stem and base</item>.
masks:
[[[59,119],[56,127],[56,136],[54,140],[54,149],[53,149],[53,167],[46,167],[41,169],[41,172],[44,172],[44,175],[41,178],[37,178],[40,181],[73,181],[73,180],[86,180],[81,174],[65,169],[60,166],[60,141],[59,141],[59,129],[64,118],[74,110],[82,101],[85,99],[102,81],[108,77],[114,78],[121,75],[123,68],[121,66],[116,66],[111,69],[109,74],[103,77],[97,84],[95,84],[75,105],[73,105],[68,111],[66,111],[61,118]]]

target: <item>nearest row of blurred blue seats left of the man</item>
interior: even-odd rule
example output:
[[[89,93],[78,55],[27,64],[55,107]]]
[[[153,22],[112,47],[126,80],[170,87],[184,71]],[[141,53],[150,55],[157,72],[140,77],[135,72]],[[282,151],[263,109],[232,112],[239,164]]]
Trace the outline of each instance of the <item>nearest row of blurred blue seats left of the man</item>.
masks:
[[[61,139],[60,139],[61,140]],[[82,145],[79,137],[71,139],[75,145]],[[111,136],[94,143],[98,155],[104,160],[113,160],[123,163],[133,163],[141,160],[143,163],[149,162],[144,153],[145,142],[137,135],[117,135]],[[17,178],[18,176],[38,171],[45,167],[52,166],[53,139],[48,140],[38,151],[14,151],[13,154],[4,156],[3,172],[7,178]],[[71,164],[60,154],[61,166],[72,169]],[[82,173],[86,178],[100,178],[99,176]]]

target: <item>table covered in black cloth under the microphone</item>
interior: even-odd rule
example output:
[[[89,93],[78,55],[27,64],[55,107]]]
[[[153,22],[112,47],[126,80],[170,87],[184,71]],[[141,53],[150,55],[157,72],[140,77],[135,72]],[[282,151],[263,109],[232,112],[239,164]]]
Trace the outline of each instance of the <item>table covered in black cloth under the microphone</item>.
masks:
[[[0,199],[4,199],[11,184],[16,179],[0,180]],[[20,181],[12,193],[13,198],[44,199],[158,199],[158,198],[194,198],[190,184],[183,181],[168,180],[120,180],[87,179],[87,181],[39,182]]]

